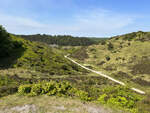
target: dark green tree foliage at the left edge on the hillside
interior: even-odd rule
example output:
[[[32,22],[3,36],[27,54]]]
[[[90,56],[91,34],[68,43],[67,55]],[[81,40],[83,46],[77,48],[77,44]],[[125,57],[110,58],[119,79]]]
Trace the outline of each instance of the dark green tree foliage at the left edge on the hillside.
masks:
[[[22,42],[13,41],[9,33],[0,26],[0,62],[2,63],[5,59],[7,61],[14,61],[20,57],[24,51],[25,48],[22,47]]]

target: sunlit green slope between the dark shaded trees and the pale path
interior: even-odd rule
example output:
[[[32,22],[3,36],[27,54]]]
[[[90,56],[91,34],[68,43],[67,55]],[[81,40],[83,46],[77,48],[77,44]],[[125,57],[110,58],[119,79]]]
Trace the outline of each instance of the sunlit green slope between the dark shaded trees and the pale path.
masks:
[[[26,48],[24,54],[13,65],[15,68],[22,67],[24,69],[49,73],[50,75],[79,74],[80,72],[85,72],[46,44],[34,43],[16,37],[13,37],[13,39],[22,41]]]

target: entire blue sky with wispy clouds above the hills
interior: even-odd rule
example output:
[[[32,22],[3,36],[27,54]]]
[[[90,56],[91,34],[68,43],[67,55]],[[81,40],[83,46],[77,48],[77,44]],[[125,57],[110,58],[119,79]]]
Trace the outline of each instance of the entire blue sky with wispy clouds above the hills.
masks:
[[[0,0],[0,24],[16,34],[106,37],[150,31],[149,0]]]

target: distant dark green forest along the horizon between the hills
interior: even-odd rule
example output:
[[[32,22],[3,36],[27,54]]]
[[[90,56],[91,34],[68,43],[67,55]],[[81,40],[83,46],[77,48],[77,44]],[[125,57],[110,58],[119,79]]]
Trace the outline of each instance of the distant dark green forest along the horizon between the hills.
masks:
[[[20,35],[20,37],[30,41],[38,41],[50,45],[55,44],[61,46],[88,46],[97,43],[97,41],[89,38],[73,37],[69,35],[51,36],[45,34],[44,35],[37,34],[37,35]]]

